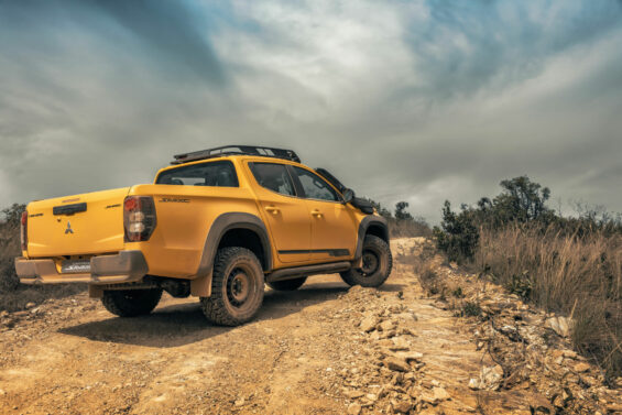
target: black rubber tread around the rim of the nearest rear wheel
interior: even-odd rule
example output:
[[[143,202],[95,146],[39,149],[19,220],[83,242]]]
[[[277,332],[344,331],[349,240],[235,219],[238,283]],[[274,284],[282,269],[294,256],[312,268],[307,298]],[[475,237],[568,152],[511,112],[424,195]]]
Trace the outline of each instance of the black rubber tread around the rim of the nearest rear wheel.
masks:
[[[258,279],[261,284],[258,284],[260,290],[258,293],[259,298],[257,299],[257,306],[249,310],[249,313],[236,317],[227,309],[227,305],[225,304],[226,299],[222,295],[222,284],[228,276],[226,273],[229,264],[241,259],[247,259],[255,267],[255,271],[259,274]],[[261,307],[263,302],[263,270],[261,267],[261,263],[251,250],[241,247],[222,248],[218,250],[216,253],[216,260],[214,261],[211,295],[209,297],[200,298],[203,314],[209,321],[220,326],[239,326],[244,324],[252,319]]]

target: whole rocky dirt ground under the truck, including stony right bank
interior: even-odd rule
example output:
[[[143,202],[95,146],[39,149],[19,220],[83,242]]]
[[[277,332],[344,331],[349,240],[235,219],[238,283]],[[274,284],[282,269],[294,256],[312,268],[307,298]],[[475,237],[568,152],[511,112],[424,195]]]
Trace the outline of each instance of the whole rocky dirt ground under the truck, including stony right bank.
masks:
[[[569,349],[571,321],[445,264],[423,239],[392,249],[380,290],[312,277],[268,291],[237,328],[170,297],[133,319],[85,294],[4,314],[0,412],[622,414],[620,390]]]

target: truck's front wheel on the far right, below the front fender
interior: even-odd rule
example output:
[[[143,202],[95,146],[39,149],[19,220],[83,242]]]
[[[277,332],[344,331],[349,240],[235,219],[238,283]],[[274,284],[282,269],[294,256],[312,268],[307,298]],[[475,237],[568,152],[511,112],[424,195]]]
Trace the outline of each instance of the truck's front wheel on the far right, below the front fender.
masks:
[[[363,241],[363,266],[340,272],[341,280],[348,285],[364,287],[381,286],[393,267],[393,256],[389,243],[373,234],[365,236]],[[374,263],[374,261],[377,261]],[[371,262],[371,266],[369,264]],[[367,267],[367,269],[365,269]]]

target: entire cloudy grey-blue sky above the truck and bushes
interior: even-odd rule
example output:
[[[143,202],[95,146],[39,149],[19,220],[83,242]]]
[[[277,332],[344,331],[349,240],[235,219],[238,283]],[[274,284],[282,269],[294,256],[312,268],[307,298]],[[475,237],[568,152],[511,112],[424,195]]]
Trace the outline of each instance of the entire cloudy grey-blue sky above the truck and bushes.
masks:
[[[0,0],[0,206],[232,143],[432,222],[524,174],[622,211],[622,1]]]

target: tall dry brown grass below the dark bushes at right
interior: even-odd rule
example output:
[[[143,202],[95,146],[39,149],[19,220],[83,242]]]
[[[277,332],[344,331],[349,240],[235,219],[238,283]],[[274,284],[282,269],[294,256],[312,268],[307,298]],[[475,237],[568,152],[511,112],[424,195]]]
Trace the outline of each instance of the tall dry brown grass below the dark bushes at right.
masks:
[[[525,299],[572,317],[572,341],[609,374],[622,373],[622,237],[552,229],[482,230],[480,269]]]

